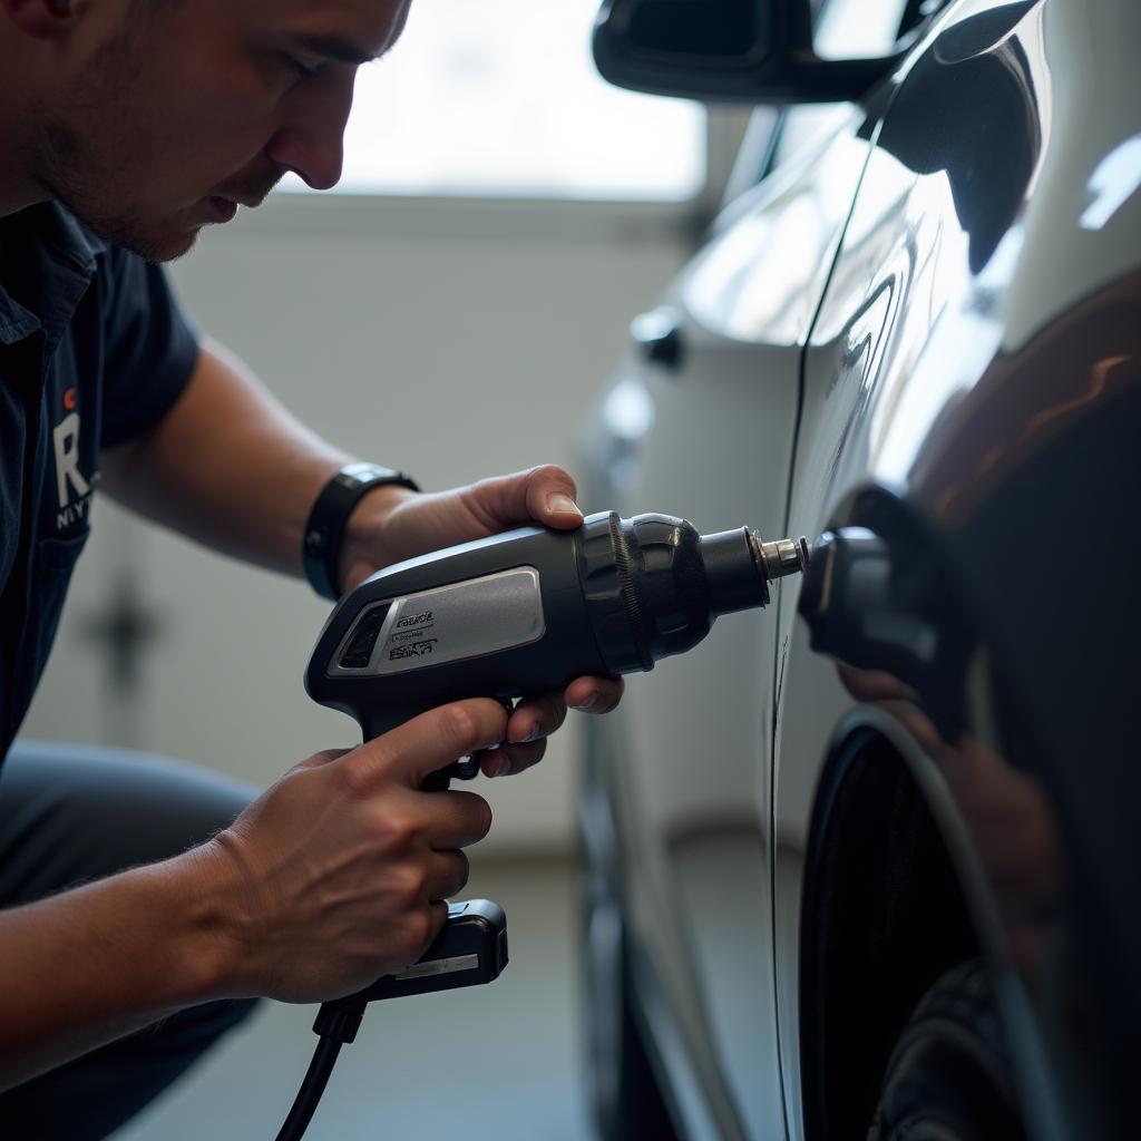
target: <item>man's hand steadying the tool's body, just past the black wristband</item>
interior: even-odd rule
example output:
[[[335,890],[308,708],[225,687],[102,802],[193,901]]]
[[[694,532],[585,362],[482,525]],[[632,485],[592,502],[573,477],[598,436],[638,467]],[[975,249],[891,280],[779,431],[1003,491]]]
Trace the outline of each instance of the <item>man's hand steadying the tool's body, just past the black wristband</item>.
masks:
[[[512,527],[539,524],[573,531],[582,523],[575,495],[570,476],[550,464],[436,494],[380,487],[349,516],[341,581],[351,590],[378,567]],[[521,702],[508,722],[504,745],[484,753],[484,772],[505,776],[536,763],[568,705],[608,713],[621,697],[618,678],[576,678],[563,694]]]

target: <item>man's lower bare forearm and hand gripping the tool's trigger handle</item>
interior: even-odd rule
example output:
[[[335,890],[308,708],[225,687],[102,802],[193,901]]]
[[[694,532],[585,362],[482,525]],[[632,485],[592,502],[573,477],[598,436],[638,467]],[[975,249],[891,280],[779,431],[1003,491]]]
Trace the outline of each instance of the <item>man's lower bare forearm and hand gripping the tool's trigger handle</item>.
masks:
[[[486,698],[430,710],[309,758],[205,844],[7,908],[0,1091],[186,1006],[318,1002],[415,962],[491,826],[420,784],[505,728]]]

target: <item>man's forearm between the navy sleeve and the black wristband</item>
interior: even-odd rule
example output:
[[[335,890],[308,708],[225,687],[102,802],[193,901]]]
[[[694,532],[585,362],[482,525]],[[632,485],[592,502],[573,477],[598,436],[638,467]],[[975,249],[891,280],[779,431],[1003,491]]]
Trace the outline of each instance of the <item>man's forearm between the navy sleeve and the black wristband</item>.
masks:
[[[104,488],[209,547],[300,573],[308,512],[351,460],[311,432],[218,346],[145,437],[104,453]]]

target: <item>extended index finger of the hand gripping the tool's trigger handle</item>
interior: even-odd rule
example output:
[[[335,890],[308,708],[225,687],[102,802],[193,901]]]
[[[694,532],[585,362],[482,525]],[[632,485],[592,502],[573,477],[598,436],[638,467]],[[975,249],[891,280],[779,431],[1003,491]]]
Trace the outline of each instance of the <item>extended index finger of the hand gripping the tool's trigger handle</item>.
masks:
[[[477,697],[429,710],[340,759],[347,778],[362,792],[398,774],[419,788],[424,777],[479,748],[492,748],[507,733],[507,711]]]

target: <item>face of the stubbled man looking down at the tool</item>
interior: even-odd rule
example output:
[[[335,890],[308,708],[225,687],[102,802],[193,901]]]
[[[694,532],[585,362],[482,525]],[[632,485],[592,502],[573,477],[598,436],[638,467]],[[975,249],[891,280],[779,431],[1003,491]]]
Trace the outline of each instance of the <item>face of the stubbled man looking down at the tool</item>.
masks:
[[[356,68],[408,3],[106,0],[105,34],[35,116],[35,175],[102,236],[177,258],[290,170],[337,183]]]

